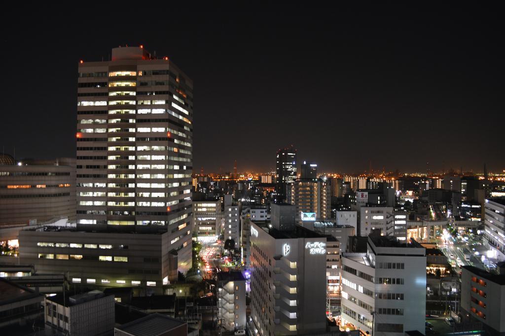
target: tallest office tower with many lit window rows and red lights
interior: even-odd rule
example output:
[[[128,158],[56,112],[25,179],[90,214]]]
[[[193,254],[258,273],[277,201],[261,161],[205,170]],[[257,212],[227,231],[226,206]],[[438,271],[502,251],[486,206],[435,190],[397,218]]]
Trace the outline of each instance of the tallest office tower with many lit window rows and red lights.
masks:
[[[78,72],[78,229],[168,231],[190,264],[192,81],[142,46]]]

